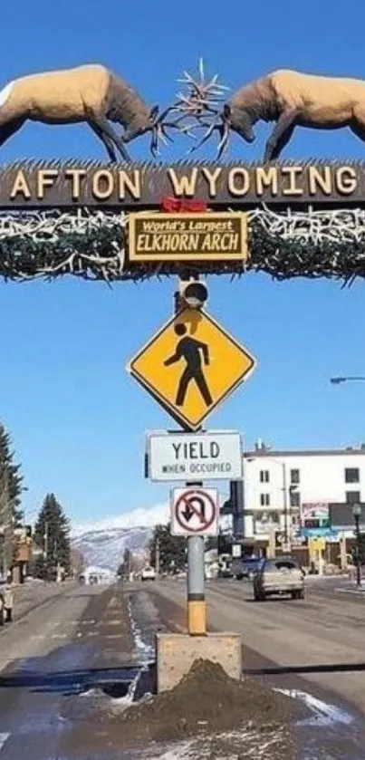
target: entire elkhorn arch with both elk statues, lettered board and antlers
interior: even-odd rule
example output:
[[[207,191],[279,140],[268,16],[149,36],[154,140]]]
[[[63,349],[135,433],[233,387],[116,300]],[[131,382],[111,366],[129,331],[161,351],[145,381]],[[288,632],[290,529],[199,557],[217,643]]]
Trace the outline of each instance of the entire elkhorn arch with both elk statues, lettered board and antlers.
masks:
[[[96,73],[97,97],[89,85]],[[25,78],[0,92],[0,145],[26,118],[50,121],[52,91],[54,123],[86,121],[104,143],[110,163],[24,160],[0,168],[0,275],[5,280],[72,274],[112,283],[164,274],[262,271],[276,279],[327,277],[351,283],[365,276],[365,163],[279,159],[294,127],[302,124],[350,126],[364,139],[365,82],[274,72],[227,98],[217,78],[207,81],[200,66],[197,79],[185,74],[185,91],[161,111],[102,66],[30,79],[36,115]],[[307,91],[312,88],[314,104],[322,106],[321,123],[318,109],[308,111],[303,102],[304,84]],[[260,119],[275,124],[263,161],[222,162],[230,132],[251,142]],[[112,122],[124,131],[117,132]],[[196,139],[193,150],[217,132],[219,158],[195,161],[190,155],[172,165],[157,161],[159,139],[166,140],[170,130]],[[155,159],[134,162],[125,145],[149,131]]]

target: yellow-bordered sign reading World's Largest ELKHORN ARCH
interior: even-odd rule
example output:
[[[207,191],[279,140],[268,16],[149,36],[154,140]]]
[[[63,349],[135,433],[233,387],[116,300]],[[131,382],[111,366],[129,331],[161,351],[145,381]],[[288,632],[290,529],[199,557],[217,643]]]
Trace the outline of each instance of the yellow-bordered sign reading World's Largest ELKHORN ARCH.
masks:
[[[239,212],[130,214],[131,262],[245,261],[247,221]]]

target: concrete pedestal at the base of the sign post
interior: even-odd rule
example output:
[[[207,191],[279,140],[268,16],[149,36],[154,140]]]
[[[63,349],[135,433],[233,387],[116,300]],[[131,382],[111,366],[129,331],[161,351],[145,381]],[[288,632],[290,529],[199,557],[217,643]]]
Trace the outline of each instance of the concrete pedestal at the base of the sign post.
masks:
[[[174,688],[196,659],[218,662],[230,678],[241,678],[242,642],[237,633],[158,633],[156,663],[158,693]]]

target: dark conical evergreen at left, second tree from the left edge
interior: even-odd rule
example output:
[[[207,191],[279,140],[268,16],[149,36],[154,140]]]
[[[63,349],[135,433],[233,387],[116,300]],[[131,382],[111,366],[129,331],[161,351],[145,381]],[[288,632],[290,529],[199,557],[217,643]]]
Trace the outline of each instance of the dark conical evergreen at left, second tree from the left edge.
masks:
[[[70,522],[54,494],[47,494],[34,528],[34,541],[43,549],[36,561],[37,577],[55,580],[57,565],[70,572]]]

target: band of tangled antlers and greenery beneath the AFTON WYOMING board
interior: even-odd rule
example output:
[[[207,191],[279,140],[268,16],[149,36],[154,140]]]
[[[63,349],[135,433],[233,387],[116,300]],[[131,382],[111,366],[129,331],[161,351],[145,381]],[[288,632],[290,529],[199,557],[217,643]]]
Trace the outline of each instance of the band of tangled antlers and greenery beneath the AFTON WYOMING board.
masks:
[[[92,220],[92,215],[89,218]],[[129,263],[128,226],[125,220],[124,224],[121,221],[116,215],[103,214],[80,229],[77,224],[71,228],[57,227],[55,222],[53,233],[41,231],[37,235],[26,231],[29,227],[25,225],[24,235],[19,234],[18,223],[15,234],[9,229],[9,233],[0,236],[0,277],[22,281],[72,274],[88,280],[117,282],[182,273],[180,262]],[[315,230],[302,238],[284,236],[268,230],[259,216],[253,214],[249,217],[249,257],[244,266],[240,262],[206,262],[200,266],[189,262],[189,274],[255,271],[277,280],[325,277],[349,282],[355,277],[365,277],[365,234],[363,229],[357,230],[356,223],[352,223],[348,233],[349,228],[342,229],[339,225],[333,236],[316,236]]]

